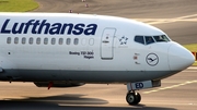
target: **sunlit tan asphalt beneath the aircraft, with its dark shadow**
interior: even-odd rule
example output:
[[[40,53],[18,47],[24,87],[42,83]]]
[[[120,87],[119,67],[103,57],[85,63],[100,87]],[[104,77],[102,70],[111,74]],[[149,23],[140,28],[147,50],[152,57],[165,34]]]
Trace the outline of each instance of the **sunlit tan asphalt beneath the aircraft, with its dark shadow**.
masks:
[[[139,106],[128,106],[125,85],[88,84],[74,88],[38,88],[32,83],[0,83],[0,110],[196,110],[197,68],[140,90]]]

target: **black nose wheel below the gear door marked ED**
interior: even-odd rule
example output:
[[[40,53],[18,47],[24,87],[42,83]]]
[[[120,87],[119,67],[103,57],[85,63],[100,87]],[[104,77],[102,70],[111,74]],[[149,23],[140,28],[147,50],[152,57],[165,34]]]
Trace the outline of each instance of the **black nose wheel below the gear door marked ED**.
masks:
[[[129,105],[138,105],[141,101],[141,96],[139,93],[129,91],[127,93],[126,100]]]

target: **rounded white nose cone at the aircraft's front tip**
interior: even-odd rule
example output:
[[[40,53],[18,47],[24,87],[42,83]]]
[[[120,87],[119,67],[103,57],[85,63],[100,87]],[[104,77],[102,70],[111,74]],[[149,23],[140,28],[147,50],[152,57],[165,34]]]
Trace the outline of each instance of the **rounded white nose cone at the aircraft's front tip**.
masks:
[[[190,51],[174,42],[169,48],[169,65],[172,71],[181,71],[190,66],[195,62],[195,57]]]

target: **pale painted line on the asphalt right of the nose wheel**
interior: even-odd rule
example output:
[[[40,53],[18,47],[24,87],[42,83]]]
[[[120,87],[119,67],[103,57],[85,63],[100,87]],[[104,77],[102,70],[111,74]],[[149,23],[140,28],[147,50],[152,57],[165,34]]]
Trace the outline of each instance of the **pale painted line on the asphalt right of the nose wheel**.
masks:
[[[165,90],[165,89],[171,89],[171,88],[175,88],[175,87],[179,87],[179,86],[185,86],[185,85],[193,84],[193,83],[197,83],[197,81],[188,81],[188,82],[181,83],[181,84],[177,84],[177,85],[172,85],[172,86],[162,87],[162,88],[158,88],[158,89],[153,89],[153,90],[148,90],[148,91],[143,91],[143,94],[157,93],[157,91],[160,91],[160,90]]]

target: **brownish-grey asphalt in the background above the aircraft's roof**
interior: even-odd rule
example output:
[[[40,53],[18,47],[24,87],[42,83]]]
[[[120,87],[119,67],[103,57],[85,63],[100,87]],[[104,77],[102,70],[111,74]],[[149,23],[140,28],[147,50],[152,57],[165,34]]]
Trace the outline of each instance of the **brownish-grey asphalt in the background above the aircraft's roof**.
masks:
[[[152,23],[173,40],[197,42],[197,0],[36,0],[35,12],[103,14]],[[89,5],[86,8],[85,5]],[[148,19],[148,20],[147,20]]]

